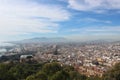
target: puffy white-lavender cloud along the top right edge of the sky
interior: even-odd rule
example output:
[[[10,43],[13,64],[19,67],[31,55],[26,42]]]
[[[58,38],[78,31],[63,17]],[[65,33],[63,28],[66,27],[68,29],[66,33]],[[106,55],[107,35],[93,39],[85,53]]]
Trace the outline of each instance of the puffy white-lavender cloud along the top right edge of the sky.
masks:
[[[120,10],[120,0],[68,0],[69,7],[80,11]]]

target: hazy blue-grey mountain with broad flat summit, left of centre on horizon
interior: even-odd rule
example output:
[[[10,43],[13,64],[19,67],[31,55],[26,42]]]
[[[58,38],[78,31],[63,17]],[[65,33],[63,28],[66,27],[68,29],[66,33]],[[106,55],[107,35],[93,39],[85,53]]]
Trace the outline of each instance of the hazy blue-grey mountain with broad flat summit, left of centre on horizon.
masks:
[[[64,37],[53,37],[53,38],[48,38],[48,37],[37,37],[37,38],[31,38],[31,39],[24,39],[21,41],[13,41],[10,43],[42,43],[42,42],[66,42],[68,39]]]

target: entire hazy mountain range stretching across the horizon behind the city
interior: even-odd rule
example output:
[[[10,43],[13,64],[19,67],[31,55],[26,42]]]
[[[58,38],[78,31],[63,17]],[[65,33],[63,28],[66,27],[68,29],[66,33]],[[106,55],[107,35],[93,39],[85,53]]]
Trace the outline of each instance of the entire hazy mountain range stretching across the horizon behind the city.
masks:
[[[24,44],[24,43],[58,43],[58,42],[71,42],[71,43],[87,43],[87,44],[104,44],[116,42],[114,40],[92,40],[92,41],[80,41],[80,40],[70,40],[64,37],[36,37],[31,39],[24,39],[21,41],[11,41],[6,43],[12,44]],[[119,41],[120,42],[120,41]]]

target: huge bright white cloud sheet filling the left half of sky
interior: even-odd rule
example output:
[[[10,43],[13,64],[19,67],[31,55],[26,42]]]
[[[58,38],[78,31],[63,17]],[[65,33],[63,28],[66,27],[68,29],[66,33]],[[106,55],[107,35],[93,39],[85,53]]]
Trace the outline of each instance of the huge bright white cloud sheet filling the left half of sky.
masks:
[[[61,6],[30,0],[0,0],[0,36],[56,33],[70,13]]]

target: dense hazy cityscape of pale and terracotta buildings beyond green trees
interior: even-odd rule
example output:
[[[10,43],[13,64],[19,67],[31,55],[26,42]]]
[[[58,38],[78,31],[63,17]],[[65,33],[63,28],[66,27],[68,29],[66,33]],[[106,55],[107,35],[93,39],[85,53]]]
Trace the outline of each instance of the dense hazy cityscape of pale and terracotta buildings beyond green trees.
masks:
[[[100,76],[120,62],[120,42],[26,43],[4,46],[0,61],[57,61],[73,66],[81,74]]]

